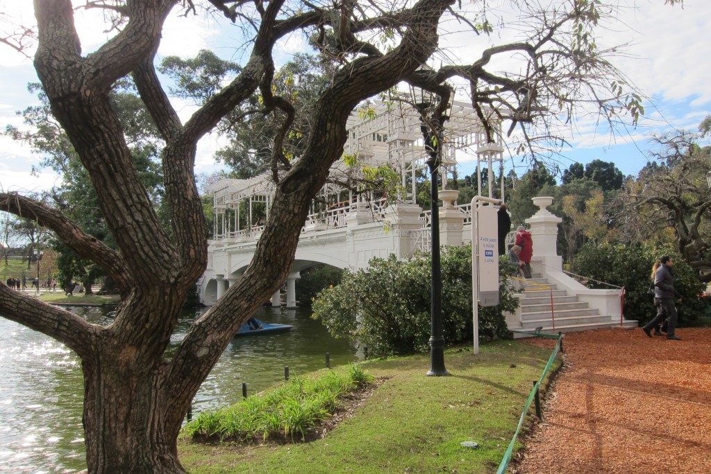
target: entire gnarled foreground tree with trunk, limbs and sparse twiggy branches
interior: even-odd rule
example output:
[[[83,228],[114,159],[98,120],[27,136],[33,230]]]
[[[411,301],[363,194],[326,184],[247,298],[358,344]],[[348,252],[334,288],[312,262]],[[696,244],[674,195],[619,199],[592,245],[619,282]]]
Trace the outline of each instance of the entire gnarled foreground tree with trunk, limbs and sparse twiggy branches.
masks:
[[[116,282],[123,303],[110,326],[97,326],[0,283],[0,313],[65,343],[82,360],[90,473],[184,472],[176,440],[191,400],[237,329],[289,274],[311,199],[341,158],[348,118],[365,99],[400,82],[427,89],[437,99],[423,113],[436,127],[454,92],[447,80],[461,79],[469,84],[489,139],[500,117],[507,118],[507,132],[518,128],[526,136],[540,136],[537,131],[546,121],[573,119],[579,101],[591,97],[603,114],[638,116],[640,99],[595,43],[596,28],[615,13],[615,5],[554,0],[543,9],[539,2],[520,1],[515,18],[498,21],[490,18],[499,12],[490,8],[491,1],[355,0],[298,6],[283,0],[92,1],[87,7],[104,7],[107,31],[114,33],[82,54],[73,2],[35,1],[34,65],[116,246],[91,236],[63,209],[46,202],[0,193],[0,208],[50,228],[77,255],[97,263]],[[242,22],[242,31],[252,36],[240,38],[240,46],[249,44],[252,50],[235,78],[221,84],[183,123],[156,73],[156,52],[171,14],[202,13],[203,6]],[[471,35],[493,33],[495,44],[483,45],[471,62],[423,68],[435,53],[438,62],[460,57],[439,51],[440,29],[455,20],[464,20],[459,24],[471,28]],[[510,37],[509,29],[517,37],[500,43],[498,38]],[[274,57],[279,40],[301,33],[312,35],[314,53],[331,65],[333,74],[309,116],[299,160],[289,160],[284,138],[294,131],[294,103],[278,92]],[[168,228],[141,180],[112,101],[114,84],[127,75],[161,136],[157,158]],[[193,172],[198,140],[257,92],[262,114],[279,123],[269,148],[276,184],[269,220],[242,278],[166,353],[188,290],[208,261],[203,202]],[[530,143],[529,150],[535,151],[535,141]]]

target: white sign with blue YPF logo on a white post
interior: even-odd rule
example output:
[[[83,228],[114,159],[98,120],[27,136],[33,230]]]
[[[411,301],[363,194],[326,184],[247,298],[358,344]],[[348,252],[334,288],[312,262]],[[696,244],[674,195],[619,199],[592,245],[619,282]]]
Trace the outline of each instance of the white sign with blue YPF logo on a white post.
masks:
[[[498,304],[498,208],[501,199],[471,199],[471,306],[474,320],[474,354],[479,354],[479,304]]]

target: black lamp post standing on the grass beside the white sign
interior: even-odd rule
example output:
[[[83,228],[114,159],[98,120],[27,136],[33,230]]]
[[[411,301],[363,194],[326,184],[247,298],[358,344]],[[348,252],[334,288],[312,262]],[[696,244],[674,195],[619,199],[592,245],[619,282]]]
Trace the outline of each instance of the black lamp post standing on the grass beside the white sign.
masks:
[[[437,108],[434,95],[424,89],[411,89],[415,109],[419,112],[420,131],[424,138],[429,167],[430,209],[432,228],[432,306],[430,307],[430,359],[427,375],[449,375],[444,367],[444,336],[442,335],[442,267],[439,255],[439,167],[442,165],[442,126],[449,116]],[[419,92],[419,93],[417,93]]]

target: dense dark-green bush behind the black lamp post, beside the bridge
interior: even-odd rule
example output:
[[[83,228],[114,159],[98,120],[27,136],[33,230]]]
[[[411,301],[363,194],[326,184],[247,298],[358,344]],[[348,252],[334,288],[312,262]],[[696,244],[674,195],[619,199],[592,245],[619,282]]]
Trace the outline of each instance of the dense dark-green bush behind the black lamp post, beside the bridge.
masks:
[[[333,336],[354,337],[376,356],[403,355],[428,348],[430,336],[429,253],[407,260],[374,258],[358,272],[346,271],[341,284],[319,293],[313,304]],[[442,248],[442,324],[444,340],[459,343],[471,339],[471,247]],[[500,267],[507,275],[508,267]],[[508,333],[503,312],[513,311],[507,279],[500,278],[501,301],[480,308],[479,336],[503,337]]]

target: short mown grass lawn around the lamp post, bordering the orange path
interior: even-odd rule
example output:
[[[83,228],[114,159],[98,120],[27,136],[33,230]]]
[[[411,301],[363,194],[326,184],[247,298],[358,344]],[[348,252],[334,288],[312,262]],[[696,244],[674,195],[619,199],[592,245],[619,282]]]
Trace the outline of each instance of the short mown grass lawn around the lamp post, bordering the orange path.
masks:
[[[459,348],[445,355],[450,377],[424,375],[429,354],[369,361],[363,368],[383,383],[323,439],[263,445],[186,439],[181,461],[194,474],[491,473],[549,356],[549,349],[518,341],[485,344],[479,355]]]

